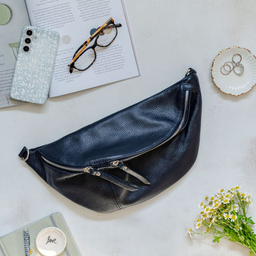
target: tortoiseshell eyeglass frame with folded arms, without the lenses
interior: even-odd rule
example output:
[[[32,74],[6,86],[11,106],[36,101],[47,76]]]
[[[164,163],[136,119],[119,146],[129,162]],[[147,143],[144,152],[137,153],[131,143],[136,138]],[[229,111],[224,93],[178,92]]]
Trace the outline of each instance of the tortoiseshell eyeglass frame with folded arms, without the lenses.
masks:
[[[115,38],[116,38],[117,29],[116,29],[116,35],[115,35],[115,37],[112,39],[112,41],[111,41],[108,45],[102,46],[102,45],[97,44],[97,40],[98,40],[99,36],[102,34],[103,30],[106,29],[106,28],[108,28],[108,27],[109,27],[109,28],[111,28],[111,27],[117,28],[117,27],[121,27],[121,26],[122,26],[122,25],[121,25],[120,23],[115,24],[115,23],[114,23],[114,20],[113,20],[112,17],[111,17],[111,18],[108,19],[101,27],[99,27],[99,28],[93,33],[93,35],[91,35],[90,38],[88,38],[88,39],[84,42],[84,44],[82,44],[82,45],[76,50],[75,54],[73,55],[72,61],[70,62],[70,64],[67,65],[68,67],[70,67],[70,73],[73,72],[73,69],[76,69],[76,70],[79,70],[79,71],[87,70],[87,69],[94,63],[94,61],[96,60],[96,56],[97,56],[97,55],[96,55],[95,47],[96,47],[96,46],[99,46],[99,47],[108,47],[110,44],[112,44],[112,42],[113,42],[113,41],[115,40]],[[94,41],[94,44],[93,44],[91,47],[86,48],[87,45],[90,44],[91,41],[93,41],[94,38],[96,38],[95,41]],[[88,67],[86,67],[85,69],[79,69],[79,68],[75,67],[76,61],[77,61],[77,60],[80,58],[80,56],[81,56],[84,52],[86,52],[88,49],[93,49],[93,51],[94,51],[94,56],[95,56],[95,57],[94,57],[93,62],[92,62]]]

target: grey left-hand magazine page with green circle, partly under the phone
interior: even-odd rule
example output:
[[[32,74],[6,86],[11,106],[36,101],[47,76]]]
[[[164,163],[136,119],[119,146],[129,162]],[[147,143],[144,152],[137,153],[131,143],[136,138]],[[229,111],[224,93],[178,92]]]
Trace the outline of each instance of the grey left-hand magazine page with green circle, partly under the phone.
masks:
[[[10,97],[20,35],[30,25],[24,0],[2,0],[0,3],[0,108],[21,104]]]

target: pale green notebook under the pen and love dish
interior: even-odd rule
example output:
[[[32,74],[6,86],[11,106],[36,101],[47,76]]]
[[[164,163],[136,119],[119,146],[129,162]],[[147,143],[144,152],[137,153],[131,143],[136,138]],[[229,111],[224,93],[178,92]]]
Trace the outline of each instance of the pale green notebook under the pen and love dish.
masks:
[[[24,249],[24,236],[23,230],[29,230],[30,236],[30,255],[41,256],[35,246],[35,238],[39,231],[45,227],[58,227],[67,237],[67,245],[64,251],[59,256],[81,256],[76,243],[67,227],[66,221],[60,212],[53,213],[46,218],[36,221],[27,225],[19,230],[16,230],[6,236],[0,237],[0,246],[6,256],[23,256],[25,255]]]

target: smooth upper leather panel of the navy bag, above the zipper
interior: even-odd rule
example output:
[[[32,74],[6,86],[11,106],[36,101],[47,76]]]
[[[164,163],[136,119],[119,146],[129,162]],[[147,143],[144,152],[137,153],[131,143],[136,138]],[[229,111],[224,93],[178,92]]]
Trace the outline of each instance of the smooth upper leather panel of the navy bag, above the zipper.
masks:
[[[193,83],[197,84],[195,77]],[[72,167],[97,165],[146,151],[177,129],[183,114],[186,84],[187,77],[38,151],[48,160]]]

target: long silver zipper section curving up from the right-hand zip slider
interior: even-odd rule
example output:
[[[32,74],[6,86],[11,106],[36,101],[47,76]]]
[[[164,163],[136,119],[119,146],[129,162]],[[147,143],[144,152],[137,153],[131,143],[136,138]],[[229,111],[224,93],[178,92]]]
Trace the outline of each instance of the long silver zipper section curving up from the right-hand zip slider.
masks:
[[[135,158],[135,157],[139,157],[139,156],[141,156],[141,155],[143,155],[143,154],[145,154],[145,153],[148,153],[149,151],[151,151],[151,150],[153,150],[153,149],[155,149],[155,148],[160,147],[161,145],[163,145],[164,143],[168,142],[169,140],[172,140],[172,138],[175,137],[175,136],[180,132],[180,130],[181,130],[182,127],[183,127],[183,124],[184,124],[185,118],[186,118],[186,111],[187,111],[187,108],[188,108],[188,104],[189,104],[189,90],[186,90],[186,91],[185,91],[185,99],[184,99],[184,110],[183,110],[183,113],[182,113],[182,116],[181,116],[181,121],[180,121],[180,124],[179,124],[177,130],[172,134],[171,137],[169,137],[167,140],[163,141],[162,143],[156,145],[155,147],[150,148],[150,149],[148,149],[148,150],[146,150],[146,151],[141,152],[140,154],[136,154],[136,155],[134,155],[134,156],[127,157],[127,158],[121,159],[121,160],[114,160],[114,161],[110,162],[110,164],[111,164],[112,166],[118,166],[118,164],[119,164],[120,162],[125,162],[125,161],[131,160],[131,159],[133,159],[133,158]]]

